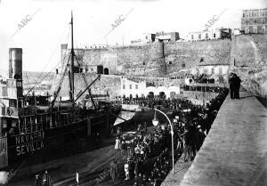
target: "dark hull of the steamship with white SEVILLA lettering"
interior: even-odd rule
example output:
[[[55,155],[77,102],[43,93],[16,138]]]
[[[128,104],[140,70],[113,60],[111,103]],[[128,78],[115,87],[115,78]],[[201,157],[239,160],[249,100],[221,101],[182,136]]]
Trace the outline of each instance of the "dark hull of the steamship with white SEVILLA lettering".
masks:
[[[112,112],[118,114],[119,108]],[[56,158],[63,158],[78,152],[95,148],[95,134],[101,136],[109,134],[109,125],[116,117],[106,111],[84,116],[68,125],[47,128],[43,123],[43,130],[25,133],[7,138],[8,167],[32,166]]]

